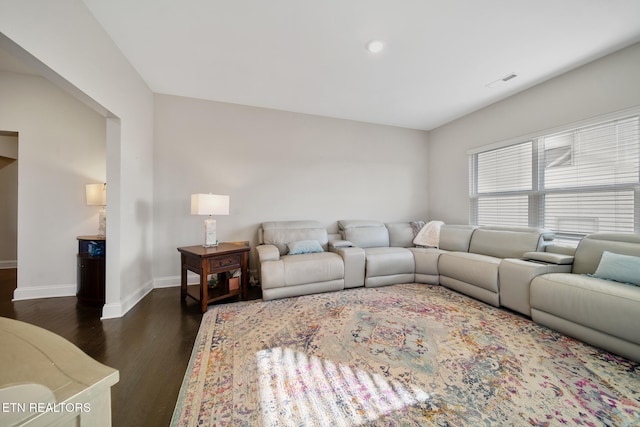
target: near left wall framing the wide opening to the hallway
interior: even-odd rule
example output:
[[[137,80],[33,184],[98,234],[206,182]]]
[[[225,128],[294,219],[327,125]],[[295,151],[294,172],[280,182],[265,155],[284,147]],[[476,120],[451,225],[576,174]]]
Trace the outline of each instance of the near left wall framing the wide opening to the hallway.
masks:
[[[0,28],[59,84],[110,112],[103,317],[121,316],[152,289],[153,95],[81,1],[3,0]],[[18,263],[34,257],[19,241]]]

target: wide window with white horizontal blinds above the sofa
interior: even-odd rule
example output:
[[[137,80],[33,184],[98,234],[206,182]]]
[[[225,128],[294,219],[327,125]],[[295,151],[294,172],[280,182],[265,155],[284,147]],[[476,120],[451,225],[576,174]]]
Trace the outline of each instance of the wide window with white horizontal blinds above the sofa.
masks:
[[[470,222],[544,227],[559,240],[640,232],[637,112],[471,152]]]

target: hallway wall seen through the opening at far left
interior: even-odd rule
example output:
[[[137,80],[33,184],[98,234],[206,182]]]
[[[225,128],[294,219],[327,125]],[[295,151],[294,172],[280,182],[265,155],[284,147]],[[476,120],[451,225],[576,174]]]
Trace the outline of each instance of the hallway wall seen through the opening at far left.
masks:
[[[0,72],[0,129],[18,132],[16,299],[75,295],[78,235],[96,234],[85,184],[106,176],[105,121],[42,77]]]

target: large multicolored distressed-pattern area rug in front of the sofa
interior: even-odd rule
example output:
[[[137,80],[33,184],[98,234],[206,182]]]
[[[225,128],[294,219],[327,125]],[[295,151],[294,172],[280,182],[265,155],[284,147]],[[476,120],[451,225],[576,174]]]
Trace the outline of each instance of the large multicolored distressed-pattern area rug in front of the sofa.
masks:
[[[173,426],[636,426],[640,366],[441,286],[210,307]]]

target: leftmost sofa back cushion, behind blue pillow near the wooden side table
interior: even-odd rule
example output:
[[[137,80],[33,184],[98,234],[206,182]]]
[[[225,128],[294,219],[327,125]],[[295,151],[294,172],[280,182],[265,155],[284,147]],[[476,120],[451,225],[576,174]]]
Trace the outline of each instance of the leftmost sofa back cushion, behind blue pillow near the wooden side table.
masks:
[[[276,246],[280,255],[287,253],[287,243],[317,240],[326,251],[329,241],[327,229],[318,221],[263,222],[258,234],[260,243]]]

